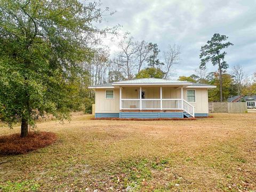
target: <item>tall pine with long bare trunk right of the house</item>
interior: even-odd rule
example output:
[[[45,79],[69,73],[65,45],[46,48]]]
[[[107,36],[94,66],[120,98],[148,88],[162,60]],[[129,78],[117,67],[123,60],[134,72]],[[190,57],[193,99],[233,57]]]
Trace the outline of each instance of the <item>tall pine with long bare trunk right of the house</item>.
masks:
[[[207,41],[207,44],[201,47],[201,54],[199,55],[201,59],[201,65],[199,68],[206,68],[206,63],[211,62],[213,66],[218,65],[219,78],[220,78],[220,101],[223,100],[222,97],[222,71],[223,69],[228,68],[228,63],[224,60],[225,51],[221,52],[223,49],[226,49],[230,45],[233,45],[230,42],[222,43],[227,41],[228,37],[226,35],[214,34],[210,41]]]

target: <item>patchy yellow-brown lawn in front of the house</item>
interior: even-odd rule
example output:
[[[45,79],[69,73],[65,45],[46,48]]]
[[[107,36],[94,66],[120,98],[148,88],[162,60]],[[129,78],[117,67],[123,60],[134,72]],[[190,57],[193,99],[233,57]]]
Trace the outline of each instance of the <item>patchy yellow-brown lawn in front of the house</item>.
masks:
[[[0,191],[256,190],[256,115],[197,121],[111,121],[74,116],[38,123],[53,145],[0,156]],[[1,127],[0,135],[19,132]]]

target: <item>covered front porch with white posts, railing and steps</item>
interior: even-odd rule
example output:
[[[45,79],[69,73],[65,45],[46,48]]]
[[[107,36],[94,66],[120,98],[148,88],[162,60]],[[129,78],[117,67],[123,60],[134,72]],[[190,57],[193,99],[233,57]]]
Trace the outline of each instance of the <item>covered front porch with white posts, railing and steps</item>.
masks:
[[[175,113],[195,117],[194,106],[184,99],[183,86],[120,86],[121,112]]]

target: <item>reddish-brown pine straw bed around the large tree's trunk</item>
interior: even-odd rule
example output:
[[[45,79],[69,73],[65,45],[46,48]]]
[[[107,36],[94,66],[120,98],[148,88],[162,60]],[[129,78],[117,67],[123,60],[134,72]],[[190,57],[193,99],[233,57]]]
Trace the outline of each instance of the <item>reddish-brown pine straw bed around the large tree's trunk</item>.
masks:
[[[57,135],[52,132],[33,132],[26,138],[21,138],[20,134],[4,135],[0,137],[0,154],[27,154],[29,151],[49,146],[56,140]]]

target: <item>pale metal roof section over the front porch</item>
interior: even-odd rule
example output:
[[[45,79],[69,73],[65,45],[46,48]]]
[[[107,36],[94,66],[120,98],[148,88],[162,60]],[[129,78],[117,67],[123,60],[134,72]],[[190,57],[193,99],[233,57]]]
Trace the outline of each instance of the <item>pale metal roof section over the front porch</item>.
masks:
[[[114,82],[113,84],[143,84],[143,83],[157,84],[157,83],[191,83],[191,82],[175,81],[171,79],[159,79],[159,78],[140,78],[140,79],[121,81],[121,82]]]

